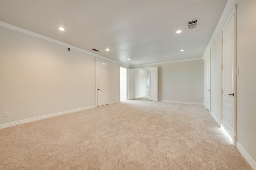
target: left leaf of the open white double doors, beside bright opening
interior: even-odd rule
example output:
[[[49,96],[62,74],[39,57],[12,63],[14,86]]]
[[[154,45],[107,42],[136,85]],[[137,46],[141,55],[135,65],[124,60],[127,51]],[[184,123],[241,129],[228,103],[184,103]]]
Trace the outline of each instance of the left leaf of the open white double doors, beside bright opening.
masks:
[[[128,68],[128,100],[135,99],[135,70]]]

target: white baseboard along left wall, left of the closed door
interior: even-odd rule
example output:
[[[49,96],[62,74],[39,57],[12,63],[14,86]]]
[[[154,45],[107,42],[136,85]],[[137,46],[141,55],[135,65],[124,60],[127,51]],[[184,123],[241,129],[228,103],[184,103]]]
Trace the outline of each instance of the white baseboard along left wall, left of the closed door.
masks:
[[[46,118],[54,117],[54,116],[58,116],[58,115],[64,115],[64,114],[68,114],[68,113],[73,113],[73,112],[76,112],[76,111],[82,111],[82,110],[86,110],[86,109],[91,109],[91,108],[94,108],[94,107],[95,106],[82,107],[82,108],[78,108],[78,109],[61,111],[61,112],[58,112],[58,113],[52,113],[52,114],[48,114],[48,115],[32,117],[32,118],[29,118],[29,119],[23,119],[23,120],[19,120],[19,121],[10,122],[10,123],[5,123],[5,124],[0,125],[0,129],[4,129],[4,128],[7,128],[7,127],[12,127],[12,126],[16,126],[16,125],[21,125],[21,124],[24,124],[24,123],[28,123],[28,122],[32,122],[32,121],[37,121],[37,120],[41,120],[41,119],[46,119]]]

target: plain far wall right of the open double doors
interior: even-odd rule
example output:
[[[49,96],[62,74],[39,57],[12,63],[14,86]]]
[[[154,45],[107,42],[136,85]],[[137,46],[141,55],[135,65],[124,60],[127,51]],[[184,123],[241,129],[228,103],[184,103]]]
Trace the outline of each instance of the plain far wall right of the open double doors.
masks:
[[[159,101],[203,104],[203,59],[152,64],[155,66],[158,67]]]

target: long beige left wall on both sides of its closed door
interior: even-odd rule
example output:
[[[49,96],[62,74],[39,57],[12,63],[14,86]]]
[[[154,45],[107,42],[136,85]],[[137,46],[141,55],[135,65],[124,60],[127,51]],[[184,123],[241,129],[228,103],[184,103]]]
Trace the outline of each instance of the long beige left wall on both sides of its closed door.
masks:
[[[0,31],[1,125],[95,107],[95,56],[6,27]],[[115,102],[119,64],[108,63],[108,98]]]

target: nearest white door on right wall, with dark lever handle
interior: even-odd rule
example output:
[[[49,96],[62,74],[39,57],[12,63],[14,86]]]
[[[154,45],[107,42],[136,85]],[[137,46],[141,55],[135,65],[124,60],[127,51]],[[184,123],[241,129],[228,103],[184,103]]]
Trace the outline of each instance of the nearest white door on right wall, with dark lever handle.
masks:
[[[234,16],[222,32],[222,128],[234,135]]]

